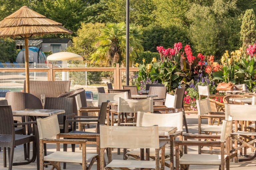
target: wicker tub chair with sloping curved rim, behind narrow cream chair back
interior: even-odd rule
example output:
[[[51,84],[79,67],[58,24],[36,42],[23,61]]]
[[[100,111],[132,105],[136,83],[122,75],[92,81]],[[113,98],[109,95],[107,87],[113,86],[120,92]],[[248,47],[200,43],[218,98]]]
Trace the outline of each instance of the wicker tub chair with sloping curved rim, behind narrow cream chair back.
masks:
[[[75,113],[76,116],[77,116],[77,106],[75,102],[76,100],[75,97],[78,94],[80,95],[80,98],[81,98],[82,107],[87,107],[85,90],[83,88],[76,89],[58,96],[58,97],[65,97],[65,98],[73,98],[73,113]]]

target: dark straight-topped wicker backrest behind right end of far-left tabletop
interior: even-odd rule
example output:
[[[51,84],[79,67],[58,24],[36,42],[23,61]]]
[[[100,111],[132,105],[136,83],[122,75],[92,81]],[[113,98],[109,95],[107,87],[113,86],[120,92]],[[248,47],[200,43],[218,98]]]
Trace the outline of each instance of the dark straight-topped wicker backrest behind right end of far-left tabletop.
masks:
[[[73,113],[73,98],[46,97],[44,109],[65,110],[65,113],[58,115],[59,123],[63,124],[64,116]]]

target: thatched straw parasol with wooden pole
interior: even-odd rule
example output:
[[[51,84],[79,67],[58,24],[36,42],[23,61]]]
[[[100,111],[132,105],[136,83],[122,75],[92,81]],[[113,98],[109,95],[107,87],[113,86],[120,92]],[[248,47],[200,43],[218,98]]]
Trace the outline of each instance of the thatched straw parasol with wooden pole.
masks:
[[[0,37],[22,37],[25,39],[27,93],[29,93],[28,39],[34,35],[44,34],[72,34],[72,32],[62,27],[61,23],[50,20],[27,6],[21,7],[0,21]]]

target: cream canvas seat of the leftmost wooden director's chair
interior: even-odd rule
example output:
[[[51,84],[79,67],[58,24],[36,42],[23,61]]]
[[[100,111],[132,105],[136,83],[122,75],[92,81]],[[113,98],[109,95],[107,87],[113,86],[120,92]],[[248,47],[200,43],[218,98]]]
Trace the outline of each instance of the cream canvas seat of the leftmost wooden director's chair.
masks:
[[[98,154],[86,153],[86,164],[89,159],[96,157]],[[82,152],[62,152],[56,151],[47,156],[44,156],[45,161],[67,162],[67,163],[83,163]]]

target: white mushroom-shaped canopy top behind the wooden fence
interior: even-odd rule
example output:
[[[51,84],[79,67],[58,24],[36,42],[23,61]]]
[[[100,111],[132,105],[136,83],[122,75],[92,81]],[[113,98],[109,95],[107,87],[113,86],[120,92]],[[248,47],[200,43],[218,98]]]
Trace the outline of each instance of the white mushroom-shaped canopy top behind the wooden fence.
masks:
[[[47,57],[47,60],[57,60],[57,61],[65,61],[65,60],[83,60],[81,55],[72,53],[72,52],[57,52],[51,54]]]

